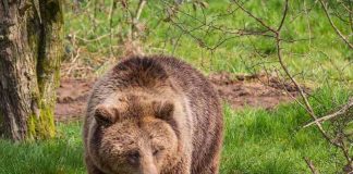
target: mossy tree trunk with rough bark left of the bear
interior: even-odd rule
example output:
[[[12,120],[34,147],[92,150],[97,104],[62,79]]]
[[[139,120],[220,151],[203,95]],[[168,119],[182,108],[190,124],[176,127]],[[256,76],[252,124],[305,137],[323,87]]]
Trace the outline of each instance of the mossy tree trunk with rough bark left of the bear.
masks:
[[[63,55],[61,0],[0,1],[0,134],[50,138]]]

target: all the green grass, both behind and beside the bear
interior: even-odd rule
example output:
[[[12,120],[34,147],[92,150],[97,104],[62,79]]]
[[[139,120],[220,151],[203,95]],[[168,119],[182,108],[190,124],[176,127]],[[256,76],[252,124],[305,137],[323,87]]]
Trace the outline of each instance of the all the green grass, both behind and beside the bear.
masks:
[[[82,12],[77,14],[65,7],[65,34],[83,39],[95,39],[109,34],[107,14],[110,1],[104,2],[106,5],[96,13],[95,18],[93,2],[84,1]],[[134,7],[135,3],[131,5]],[[252,36],[235,37],[210,51],[205,46],[200,46],[191,35],[202,38],[209,47],[217,45],[224,37],[232,36],[217,30],[205,33],[207,29],[205,26],[185,34],[171,23],[160,22],[160,18],[166,17],[163,5],[162,2],[148,3],[142,13],[141,22],[148,28],[141,36],[146,53],[176,55],[205,74],[221,71],[253,73],[264,67],[269,71],[279,67],[273,40]],[[282,2],[279,0],[268,0],[266,3],[265,1],[248,1],[245,7],[272,26],[279,23],[282,11]],[[307,14],[303,11],[305,8],[311,9]],[[243,26],[260,28],[255,21],[241,11],[217,17],[218,14],[228,12],[229,9],[234,9],[229,1],[210,1],[208,8],[204,9],[206,21],[230,28]],[[191,4],[181,7],[181,10],[193,16],[190,17],[183,13],[176,15],[178,21],[186,30],[200,25],[195,20],[204,17],[200,10],[194,11]],[[129,17],[121,11],[122,9],[119,8],[112,17],[112,40],[109,37],[95,41],[65,40],[68,53],[81,48],[76,61],[92,66],[93,72],[98,76],[111,64],[110,46],[114,46],[114,57],[123,54],[121,44],[127,34],[129,25],[125,21]],[[96,27],[93,25],[93,18],[96,21]],[[333,20],[344,34],[349,33],[349,28],[339,23],[337,18]],[[353,69],[350,69],[353,52],[333,33],[317,3],[291,1],[289,18],[283,26],[283,36],[288,39],[309,38],[304,41],[284,44],[284,61],[300,82],[316,87],[309,101],[318,115],[325,115],[353,95]],[[65,61],[73,60],[68,58]],[[81,74],[78,72],[75,75]],[[314,126],[302,128],[305,123],[309,122],[309,117],[296,103],[279,105],[271,111],[252,108],[234,111],[224,104],[224,117],[226,137],[221,174],[309,173],[303,160],[304,157],[313,160],[321,173],[337,173],[343,166],[340,152],[329,146]],[[0,173],[85,173],[81,123],[59,124],[58,132],[60,136],[50,140],[22,144],[0,140]]]

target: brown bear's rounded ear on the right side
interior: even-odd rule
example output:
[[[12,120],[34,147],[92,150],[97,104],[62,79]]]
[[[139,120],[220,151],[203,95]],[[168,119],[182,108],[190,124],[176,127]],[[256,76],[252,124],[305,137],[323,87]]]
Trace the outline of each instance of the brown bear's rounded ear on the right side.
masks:
[[[168,120],[173,115],[174,104],[169,101],[154,101],[153,108],[155,115],[162,120]]]

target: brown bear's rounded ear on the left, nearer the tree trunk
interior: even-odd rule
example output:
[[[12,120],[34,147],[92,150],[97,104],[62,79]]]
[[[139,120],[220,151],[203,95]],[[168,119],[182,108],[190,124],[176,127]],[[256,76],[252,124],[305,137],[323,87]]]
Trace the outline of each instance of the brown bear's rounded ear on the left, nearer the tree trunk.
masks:
[[[95,110],[95,119],[99,125],[108,126],[117,122],[119,112],[115,108],[99,104]]]

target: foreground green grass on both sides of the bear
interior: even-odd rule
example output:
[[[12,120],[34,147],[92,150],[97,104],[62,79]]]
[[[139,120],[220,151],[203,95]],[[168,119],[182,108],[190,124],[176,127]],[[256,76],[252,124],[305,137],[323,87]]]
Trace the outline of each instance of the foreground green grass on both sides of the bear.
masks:
[[[342,104],[351,92],[344,89],[319,89],[312,103],[319,114]],[[322,104],[321,100],[330,102]],[[320,102],[318,102],[320,101]],[[340,171],[343,160],[340,152],[322,139],[309,122],[308,115],[296,103],[278,107],[273,111],[245,109],[233,111],[224,105],[226,136],[221,160],[221,174],[309,173],[303,160],[309,158],[320,172]],[[13,144],[0,140],[0,173],[60,174],[85,173],[81,123],[60,124],[60,136],[52,140]]]

